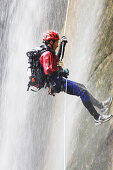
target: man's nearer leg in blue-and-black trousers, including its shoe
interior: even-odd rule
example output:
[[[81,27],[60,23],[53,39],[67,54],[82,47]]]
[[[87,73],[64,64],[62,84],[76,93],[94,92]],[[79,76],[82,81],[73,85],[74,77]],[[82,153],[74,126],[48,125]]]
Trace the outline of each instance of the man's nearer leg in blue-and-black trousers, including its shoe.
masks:
[[[95,123],[97,125],[102,124],[112,118],[112,115],[100,115],[95,110],[93,104],[90,100],[90,95],[86,89],[81,90],[81,88],[77,85],[76,82],[66,80],[63,78],[55,78],[54,80],[54,90],[56,89],[56,93],[60,91],[64,91],[70,95],[80,96],[83,105],[87,108],[90,114],[94,117]]]

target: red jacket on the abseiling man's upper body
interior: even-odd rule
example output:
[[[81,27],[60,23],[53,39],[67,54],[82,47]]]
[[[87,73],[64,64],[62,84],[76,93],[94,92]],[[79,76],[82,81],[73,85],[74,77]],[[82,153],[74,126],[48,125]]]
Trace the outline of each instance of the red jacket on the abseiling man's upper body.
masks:
[[[59,70],[58,62],[58,56],[53,56],[50,51],[46,51],[40,56],[40,63],[43,66],[46,75]]]

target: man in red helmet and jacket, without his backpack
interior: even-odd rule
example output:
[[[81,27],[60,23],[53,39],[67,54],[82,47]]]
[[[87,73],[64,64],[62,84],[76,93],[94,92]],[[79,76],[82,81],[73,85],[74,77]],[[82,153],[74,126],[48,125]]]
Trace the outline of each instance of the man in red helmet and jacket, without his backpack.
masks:
[[[63,91],[70,95],[80,96],[83,105],[94,117],[96,125],[110,120],[112,115],[100,115],[94,106],[101,109],[101,111],[107,111],[112,103],[111,97],[104,102],[99,102],[88,92],[84,85],[67,80],[69,70],[63,70],[63,68],[59,66],[59,60],[61,55],[63,58],[67,39],[65,36],[61,38],[60,49],[56,55],[55,50],[58,47],[59,40],[58,33],[54,31],[48,31],[43,36],[43,43],[48,50],[41,54],[40,64],[43,66],[44,73],[47,76],[46,87],[49,88],[49,93],[54,95],[54,93]]]

